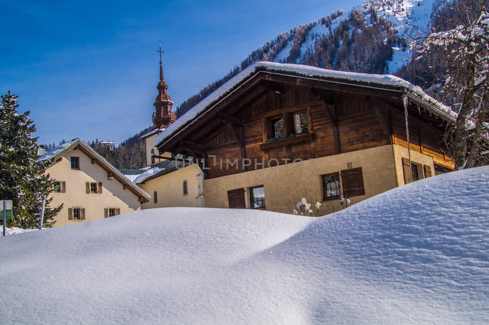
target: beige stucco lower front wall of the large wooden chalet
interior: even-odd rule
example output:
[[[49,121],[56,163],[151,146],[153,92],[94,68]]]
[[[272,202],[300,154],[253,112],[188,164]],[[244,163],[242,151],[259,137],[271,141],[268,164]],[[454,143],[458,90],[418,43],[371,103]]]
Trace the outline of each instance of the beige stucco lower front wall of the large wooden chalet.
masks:
[[[290,213],[286,204],[291,196],[289,189],[293,189],[294,182],[301,187],[305,186],[311,197],[322,198],[321,175],[347,169],[348,163],[352,163],[352,168],[362,168],[365,195],[350,198],[352,203],[357,203],[396,187],[393,157],[392,146],[384,145],[317,158],[313,161],[316,165],[314,169],[308,169],[309,164],[305,162],[302,170],[296,170],[289,164],[280,165],[275,170],[265,168],[205,180],[205,206],[228,208],[227,191],[244,187],[248,208],[249,187],[264,185],[267,210]]]

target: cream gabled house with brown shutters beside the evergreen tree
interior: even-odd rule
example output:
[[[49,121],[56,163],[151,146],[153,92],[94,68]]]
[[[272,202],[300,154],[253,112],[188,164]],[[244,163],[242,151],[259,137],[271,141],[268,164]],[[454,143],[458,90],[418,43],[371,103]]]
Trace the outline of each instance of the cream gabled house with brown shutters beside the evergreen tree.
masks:
[[[52,204],[63,203],[54,226],[112,217],[139,210],[151,197],[80,139],[42,155],[52,160],[45,173],[55,180]]]

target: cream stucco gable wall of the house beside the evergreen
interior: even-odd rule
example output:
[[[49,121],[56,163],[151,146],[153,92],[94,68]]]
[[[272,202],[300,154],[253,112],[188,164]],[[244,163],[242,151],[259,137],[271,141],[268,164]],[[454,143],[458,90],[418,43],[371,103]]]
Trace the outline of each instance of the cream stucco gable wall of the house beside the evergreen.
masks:
[[[72,170],[70,157],[80,157],[80,170]],[[54,162],[47,170],[56,181],[66,182],[66,193],[52,193],[50,206],[64,203],[63,209],[55,217],[54,226],[62,226],[104,218],[107,207],[120,208],[120,213],[131,212],[141,208],[138,197],[117,179],[108,180],[108,172],[98,164],[91,164],[91,158],[81,150],[70,150],[61,162]],[[102,182],[102,194],[86,193],[86,182]],[[79,206],[85,208],[86,220],[68,220],[68,208]]]

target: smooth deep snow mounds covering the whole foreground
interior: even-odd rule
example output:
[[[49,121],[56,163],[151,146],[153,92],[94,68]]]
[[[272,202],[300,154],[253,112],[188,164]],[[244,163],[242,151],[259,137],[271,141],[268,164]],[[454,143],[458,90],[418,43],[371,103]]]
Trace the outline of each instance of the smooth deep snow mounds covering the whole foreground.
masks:
[[[489,168],[321,218],[162,208],[0,239],[1,324],[488,324]]]

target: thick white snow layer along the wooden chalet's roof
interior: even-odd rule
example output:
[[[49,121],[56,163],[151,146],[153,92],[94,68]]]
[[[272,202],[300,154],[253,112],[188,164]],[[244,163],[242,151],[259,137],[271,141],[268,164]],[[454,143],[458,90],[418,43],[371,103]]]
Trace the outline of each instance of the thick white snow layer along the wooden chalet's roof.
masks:
[[[257,72],[257,69],[258,72]],[[368,87],[376,88],[377,86],[387,86],[401,88],[398,90],[387,89],[397,92],[402,92],[406,90],[408,96],[423,101],[429,105],[426,105],[427,109],[433,111],[433,113],[444,117],[445,119],[454,120],[456,118],[456,113],[448,106],[445,106],[441,102],[436,101],[432,97],[428,96],[423,92],[421,87],[415,86],[412,83],[405,81],[399,77],[393,75],[377,75],[377,74],[367,74],[367,73],[357,73],[357,72],[344,72],[336,70],[328,70],[316,68],[309,65],[302,64],[289,64],[289,63],[277,63],[277,62],[257,62],[242,72],[231,78],[229,81],[224,83],[221,87],[216,89],[212,94],[203,99],[200,103],[195,105],[189,111],[187,111],[183,116],[173,122],[168,126],[163,132],[158,134],[155,138],[154,145],[158,147],[163,142],[169,140],[173,135],[183,130],[186,126],[190,125],[198,116],[205,113],[211,104],[217,105],[219,101],[225,98],[225,95],[230,95],[235,91],[238,85],[243,85],[245,82],[250,80],[251,76],[257,73],[293,73],[303,78],[312,78],[314,80],[335,82],[335,83],[348,83],[349,81],[355,82],[354,86],[358,87]],[[328,80],[324,80],[327,78]],[[361,83],[361,84],[358,84]],[[382,88],[385,89],[385,88]]]

